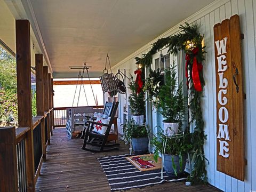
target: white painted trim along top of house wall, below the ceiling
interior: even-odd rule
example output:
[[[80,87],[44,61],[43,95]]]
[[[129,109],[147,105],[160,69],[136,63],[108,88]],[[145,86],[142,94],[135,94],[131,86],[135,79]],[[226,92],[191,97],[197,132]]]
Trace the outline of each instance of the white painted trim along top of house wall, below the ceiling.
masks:
[[[203,9],[199,10],[198,12],[194,13],[193,15],[191,15],[190,17],[186,18],[185,20],[181,21],[180,23],[178,23],[177,25],[175,25],[174,27],[170,28],[169,30],[167,30],[165,33],[163,33],[162,35],[159,35],[158,37],[156,37],[155,39],[153,39],[152,41],[150,41],[149,43],[147,43],[146,45],[142,46],[140,49],[138,49],[137,51],[133,52],[132,54],[130,54],[128,57],[124,58],[122,61],[118,62],[116,65],[114,65],[112,68],[118,68],[119,66],[121,66],[123,63],[127,62],[128,60],[137,57],[138,54],[142,53],[143,51],[149,49],[151,47],[151,45],[156,42],[159,38],[163,38],[163,37],[167,37],[170,36],[174,33],[176,33],[179,30],[179,27],[182,23],[185,22],[193,22],[199,18],[201,18],[203,15],[208,14],[212,11],[214,11],[215,9],[217,9],[220,5],[223,5],[227,2],[229,2],[230,0],[216,0],[212,3],[210,3],[209,5],[205,6]]]

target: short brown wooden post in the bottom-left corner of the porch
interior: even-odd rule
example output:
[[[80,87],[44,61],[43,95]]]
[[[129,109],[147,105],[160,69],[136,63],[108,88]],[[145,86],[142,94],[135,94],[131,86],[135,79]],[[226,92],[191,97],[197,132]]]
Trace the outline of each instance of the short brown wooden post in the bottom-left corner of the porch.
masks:
[[[18,191],[15,127],[0,127],[0,191]]]

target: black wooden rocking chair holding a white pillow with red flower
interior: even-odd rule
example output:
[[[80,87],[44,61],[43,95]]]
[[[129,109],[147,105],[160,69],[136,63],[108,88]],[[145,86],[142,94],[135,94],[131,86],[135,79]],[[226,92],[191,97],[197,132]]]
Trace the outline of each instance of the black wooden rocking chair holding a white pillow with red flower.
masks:
[[[111,144],[107,143],[108,135],[109,135],[109,132],[111,129],[111,125],[113,124],[113,121],[115,118],[118,103],[119,102],[116,102],[114,104],[114,108],[111,113],[110,120],[109,120],[108,124],[87,121],[89,123],[89,125],[86,129],[86,133],[85,133],[85,137],[84,137],[84,143],[83,143],[83,147],[82,147],[83,150],[87,150],[87,151],[91,151],[91,152],[104,152],[104,151],[119,149],[119,147],[113,147],[113,146],[119,145],[118,143],[111,143]],[[93,131],[94,125],[107,126],[107,130],[106,130],[105,134],[99,134],[99,133],[94,132]],[[99,149],[87,148],[86,145],[97,146],[97,147],[99,147]],[[107,149],[104,149],[105,147],[107,147]]]

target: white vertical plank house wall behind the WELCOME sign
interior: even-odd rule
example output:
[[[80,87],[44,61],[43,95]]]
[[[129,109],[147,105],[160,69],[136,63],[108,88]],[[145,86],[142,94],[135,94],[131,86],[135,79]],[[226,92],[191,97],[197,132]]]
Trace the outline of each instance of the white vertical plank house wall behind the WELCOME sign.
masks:
[[[244,101],[244,130],[245,130],[245,181],[217,171],[217,144],[216,144],[216,87],[215,87],[215,59],[214,59],[214,37],[213,26],[224,19],[229,19],[231,15],[238,14],[240,18],[241,33],[244,34],[242,40],[243,58],[243,83],[246,100]],[[177,33],[179,25],[184,22],[197,22],[201,25],[201,33],[205,34],[204,43],[206,45],[205,62],[203,72],[205,78],[204,98],[203,98],[203,118],[205,121],[205,133],[207,140],[204,150],[205,156],[209,160],[207,164],[207,177],[211,185],[223,191],[249,192],[256,190],[256,0],[217,0],[201,11],[191,15],[186,20],[178,23],[166,33],[157,37],[141,49],[135,51],[123,61],[113,67],[116,73],[118,69],[130,69],[130,73],[136,69],[134,57],[142,57],[143,53],[150,50],[151,44],[158,38],[166,37]],[[177,57],[178,65],[182,66],[182,57]],[[125,105],[124,95],[120,97],[120,105]],[[128,101],[127,101],[128,102]],[[121,107],[121,114],[123,107]],[[122,118],[121,118],[122,120]],[[123,122],[121,122],[123,123]],[[234,169],[236,169],[234,167]]]

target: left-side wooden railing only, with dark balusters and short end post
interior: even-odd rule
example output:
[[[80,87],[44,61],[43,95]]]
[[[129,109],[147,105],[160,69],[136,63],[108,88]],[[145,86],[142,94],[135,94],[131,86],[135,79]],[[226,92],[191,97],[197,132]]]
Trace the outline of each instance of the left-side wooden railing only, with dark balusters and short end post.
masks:
[[[2,166],[0,177],[5,177],[3,179],[5,183],[0,185],[0,191],[34,191],[35,186],[31,187],[31,181],[28,178],[28,174],[31,173],[28,173],[27,167],[33,166],[33,183],[36,183],[42,163],[46,159],[46,147],[49,141],[47,133],[50,133],[53,127],[49,124],[51,116],[52,110],[49,110],[45,116],[33,118],[32,143],[28,141],[30,127],[18,127],[17,129],[0,127],[0,164]],[[34,149],[34,159],[28,158],[27,149],[30,147]]]

